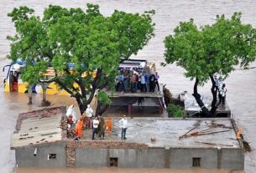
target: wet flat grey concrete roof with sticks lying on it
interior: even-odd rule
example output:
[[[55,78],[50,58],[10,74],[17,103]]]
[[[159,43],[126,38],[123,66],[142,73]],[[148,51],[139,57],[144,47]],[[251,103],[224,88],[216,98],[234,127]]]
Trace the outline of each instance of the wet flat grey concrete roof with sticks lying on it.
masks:
[[[107,120],[107,118],[106,118]],[[120,119],[112,120],[112,132],[107,133],[106,140],[120,140]],[[194,130],[192,130],[194,129]],[[181,138],[189,130],[188,136]],[[191,133],[205,134],[194,135]],[[218,133],[215,133],[218,132]],[[151,137],[156,139],[151,141]],[[141,143],[150,147],[170,148],[240,148],[231,120],[168,120],[155,118],[128,118],[126,142]],[[83,140],[91,140],[91,130],[85,130]]]

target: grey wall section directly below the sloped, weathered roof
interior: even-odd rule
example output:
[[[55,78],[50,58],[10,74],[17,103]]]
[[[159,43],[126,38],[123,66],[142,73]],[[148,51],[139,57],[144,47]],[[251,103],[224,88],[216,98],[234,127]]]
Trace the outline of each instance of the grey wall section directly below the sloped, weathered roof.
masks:
[[[34,149],[37,154],[34,155]],[[56,159],[48,159],[48,154],[56,154]],[[25,146],[15,150],[16,164],[21,167],[65,167],[65,141],[47,145]]]

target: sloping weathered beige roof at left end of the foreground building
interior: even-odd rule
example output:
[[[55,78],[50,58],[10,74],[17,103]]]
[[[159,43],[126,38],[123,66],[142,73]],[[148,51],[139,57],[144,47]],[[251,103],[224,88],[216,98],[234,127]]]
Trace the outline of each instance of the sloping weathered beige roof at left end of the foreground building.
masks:
[[[51,113],[47,116],[19,114],[16,130],[11,136],[11,149],[61,140],[61,117],[61,113]]]

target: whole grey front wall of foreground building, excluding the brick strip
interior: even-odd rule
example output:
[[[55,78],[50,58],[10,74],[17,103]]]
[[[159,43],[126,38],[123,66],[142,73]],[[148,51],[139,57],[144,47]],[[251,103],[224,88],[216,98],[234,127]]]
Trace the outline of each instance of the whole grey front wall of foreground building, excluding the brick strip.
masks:
[[[18,166],[66,167],[65,141],[16,149]],[[112,158],[121,168],[192,168],[193,158],[200,158],[200,167],[205,169],[243,170],[244,151],[238,148],[91,148],[76,147],[76,167],[109,167]],[[56,154],[48,160],[48,154]]]

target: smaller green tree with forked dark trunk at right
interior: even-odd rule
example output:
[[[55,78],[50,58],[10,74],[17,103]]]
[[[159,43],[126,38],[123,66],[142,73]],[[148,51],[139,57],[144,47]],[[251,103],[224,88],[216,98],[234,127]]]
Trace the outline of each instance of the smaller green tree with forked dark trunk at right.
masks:
[[[241,23],[241,13],[231,18],[217,16],[212,25],[197,28],[193,19],[180,22],[174,34],[165,38],[165,64],[185,69],[185,77],[196,79],[193,96],[203,114],[212,116],[217,109],[217,88],[214,74],[226,79],[237,65],[247,69],[256,55],[256,31]],[[212,81],[212,107],[207,109],[197,91],[198,85]]]

